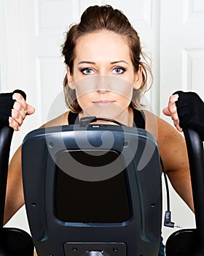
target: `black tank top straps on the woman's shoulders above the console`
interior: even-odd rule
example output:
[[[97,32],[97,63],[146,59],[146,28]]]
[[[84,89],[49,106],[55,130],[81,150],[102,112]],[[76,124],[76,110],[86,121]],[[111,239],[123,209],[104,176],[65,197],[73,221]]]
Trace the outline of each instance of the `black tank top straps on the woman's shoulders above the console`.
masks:
[[[145,116],[142,110],[136,110],[135,108],[133,108],[133,120],[133,127],[145,129]],[[69,112],[68,124],[79,124],[79,114]]]

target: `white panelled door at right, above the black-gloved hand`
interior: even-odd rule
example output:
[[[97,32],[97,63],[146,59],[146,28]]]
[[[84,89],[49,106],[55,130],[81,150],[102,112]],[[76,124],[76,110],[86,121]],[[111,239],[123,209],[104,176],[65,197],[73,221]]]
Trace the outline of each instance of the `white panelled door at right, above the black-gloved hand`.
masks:
[[[174,91],[196,91],[204,99],[203,28],[204,1],[161,1],[160,111]]]

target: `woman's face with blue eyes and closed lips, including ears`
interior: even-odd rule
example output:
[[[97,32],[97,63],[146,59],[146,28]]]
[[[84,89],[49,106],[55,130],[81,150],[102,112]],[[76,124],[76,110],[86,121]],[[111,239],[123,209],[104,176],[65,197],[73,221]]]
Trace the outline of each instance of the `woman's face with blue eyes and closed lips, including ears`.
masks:
[[[75,56],[68,84],[83,112],[115,118],[128,111],[133,88],[141,86],[141,68],[135,72],[125,38],[105,30],[86,34],[77,40]]]

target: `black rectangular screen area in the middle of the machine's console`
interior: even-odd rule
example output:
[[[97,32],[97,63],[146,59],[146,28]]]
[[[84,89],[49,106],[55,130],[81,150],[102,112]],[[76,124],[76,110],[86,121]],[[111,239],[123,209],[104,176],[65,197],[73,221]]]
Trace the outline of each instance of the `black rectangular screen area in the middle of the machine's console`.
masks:
[[[70,153],[63,152],[60,156],[63,161],[66,154]],[[71,154],[74,159],[80,159],[86,165],[86,161],[90,161],[84,151],[73,151]],[[97,157],[95,165],[104,165],[107,159],[115,159],[117,156],[114,152],[108,152]],[[103,181],[83,181],[68,175],[56,165],[55,216],[63,222],[127,221],[130,219],[130,206],[125,170]]]

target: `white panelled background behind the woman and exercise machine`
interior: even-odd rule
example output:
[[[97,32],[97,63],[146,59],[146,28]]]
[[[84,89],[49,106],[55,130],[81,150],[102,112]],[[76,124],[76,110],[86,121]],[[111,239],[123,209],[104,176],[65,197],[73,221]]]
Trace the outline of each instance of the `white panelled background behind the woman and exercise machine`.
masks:
[[[28,131],[50,118],[53,100],[62,95],[66,70],[60,54],[63,32],[93,4],[111,4],[122,10],[138,31],[144,51],[152,59],[154,85],[146,97],[154,113],[170,121],[162,115],[162,108],[177,90],[196,91],[204,99],[203,0],[0,0],[0,89],[23,89],[36,108],[34,116],[15,133],[12,153]],[[54,116],[63,110],[62,97]],[[173,221],[194,227],[193,214],[175,192],[170,199]],[[9,225],[28,230],[25,219],[23,208]],[[162,230],[165,238],[173,231]]]

